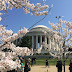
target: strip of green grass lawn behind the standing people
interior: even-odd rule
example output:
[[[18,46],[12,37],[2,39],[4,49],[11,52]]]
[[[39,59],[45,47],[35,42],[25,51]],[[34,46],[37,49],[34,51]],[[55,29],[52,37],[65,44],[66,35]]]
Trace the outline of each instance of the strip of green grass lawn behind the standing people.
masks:
[[[49,61],[49,65],[56,65],[56,63],[57,63],[57,59],[48,59],[48,61]],[[25,63],[25,60],[23,62]],[[38,58],[38,59],[36,59],[35,65],[45,65],[45,62],[46,62],[46,59]],[[62,63],[63,63],[63,60],[62,60]],[[65,64],[69,65],[69,63],[70,63],[70,59],[67,59]]]

